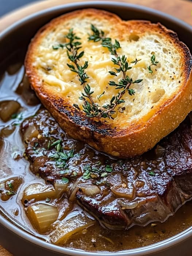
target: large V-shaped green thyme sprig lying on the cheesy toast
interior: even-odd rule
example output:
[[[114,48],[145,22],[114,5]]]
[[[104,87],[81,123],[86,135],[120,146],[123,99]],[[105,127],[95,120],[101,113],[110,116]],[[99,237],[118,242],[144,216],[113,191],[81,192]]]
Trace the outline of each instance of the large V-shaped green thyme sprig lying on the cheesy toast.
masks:
[[[54,50],[57,50],[58,48],[64,48],[67,49],[67,55],[69,60],[73,64],[67,64],[68,67],[72,72],[75,72],[78,74],[79,81],[81,82],[81,85],[84,89],[84,92],[82,92],[82,96],[79,97],[80,100],[83,100],[84,103],[82,104],[83,111],[85,112],[86,116],[88,117],[103,117],[103,118],[110,118],[114,119],[112,117],[113,114],[115,114],[115,108],[121,104],[124,103],[124,99],[122,99],[124,93],[128,91],[129,95],[134,95],[135,91],[134,89],[130,89],[130,85],[134,83],[141,83],[142,79],[138,79],[133,81],[132,78],[127,76],[126,72],[127,70],[131,69],[132,67],[128,65],[127,58],[123,56],[119,56],[117,53],[117,50],[120,48],[120,43],[115,39],[115,42],[112,43],[111,38],[105,37],[104,32],[101,30],[99,31],[95,26],[91,25],[91,30],[93,32],[92,35],[89,35],[88,40],[93,40],[94,42],[101,41],[101,45],[103,47],[107,47],[107,49],[110,51],[112,55],[114,55],[114,58],[111,59],[111,61],[118,66],[118,68],[115,68],[115,71],[109,71],[109,73],[112,76],[117,76],[117,73],[122,72],[122,79],[119,81],[119,83],[115,83],[115,81],[110,81],[108,84],[110,86],[115,86],[115,89],[122,89],[120,92],[118,92],[115,96],[112,96],[110,103],[106,104],[104,106],[99,106],[99,104],[95,103],[92,94],[94,91],[91,90],[91,87],[87,83],[87,79],[89,78],[86,69],[88,68],[88,61],[85,61],[83,65],[79,65],[78,61],[80,61],[80,58],[84,56],[84,51],[81,51],[79,53],[79,49],[81,49],[81,42],[79,41],[81,38],[77,37],[75,33],[73,33],[73,29],[71,28],[69,30],[69,33],[65,35],[65,38],[68,39],[68,42],[65,44],[59,44],[58,46],[53,46]],[[135,59],[132,63],[137,63],[140,60]],[[98,99],[104,94],[101,93]],[[75,108],[80,110],[80,107],[77,104],[73,104]],[[119,109],[119,108],[118,108]],[[123,112],[124,108],[120,108]]]

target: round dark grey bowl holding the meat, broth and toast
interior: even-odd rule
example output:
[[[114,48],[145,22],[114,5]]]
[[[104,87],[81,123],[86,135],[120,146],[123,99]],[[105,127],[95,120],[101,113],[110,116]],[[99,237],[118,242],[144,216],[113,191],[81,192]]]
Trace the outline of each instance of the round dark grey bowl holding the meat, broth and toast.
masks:
[[[173,18],[153,9],[109,1],[83,2],[57,6],[46,9],[16,22],[0,34],[0,60],[5,60],[18,46],[27,47],[30,39],[43,24],[75,9],[99,8],[118,14],[122,19],[145,19],[151,22],[161,22],[166,27],[176,31],[181,41],[187,44],[192,52],[191,38],[192,27],[181,20]],[[117,253],[90,253],[58,247],[48,244],[8,221],[0,215],[0,244],[8,249],[14,256],[191,256],[192,250],[192,227],[167,240],[158,242],[147,247],[132,249]]]

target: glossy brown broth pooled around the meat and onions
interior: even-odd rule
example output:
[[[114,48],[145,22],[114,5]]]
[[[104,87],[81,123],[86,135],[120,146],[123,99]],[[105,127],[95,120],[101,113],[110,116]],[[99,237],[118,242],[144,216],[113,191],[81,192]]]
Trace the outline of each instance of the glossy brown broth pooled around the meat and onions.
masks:
[[[5,100],[19,102],[22,106],[21,119],[23,120],[34,115],[41,105],[30,90],[27,93],[27,85],[23,87],[24,89],[22,85],[19,86],[24,76],[22,60],[15,61],[13,57],[10,61],[12,65],[9,65],[7,71],[2,73],[0,80],[0,102]],[[31,98],[26,99],[27,95]],[[0,184],[15,177],[20,177],[19,180],[23,180],[21,185],[18,184],[16,195],[10,196],[7,198],[8,200],[6,198],[3,198],[6,200],[0,199],[0,211],[4,212],[15,225],[48,241],[48,236],[40,235],[32,228],[21,203],[22,191],[28,184],[45,183],[43,179],[30,172],[29,162],[20,157],[24,153],[24,145],[19,133],[19,123],[22,120],[10,119],[6,123],[0,121],[0,137],[3,137],[3,140],[0,140]],[[12,126],[13,123],[16,125]],[[79,206],[75,205],[74,207],[79,209]],[[107,230],[97,222],[87,230],[75,234],[64,246],[85,251],[122,251],[150,245],[191,227],[191,209],[192,202],[189,201],[164,223],[158,222],[146,227],[134,226],[126,231]]]

